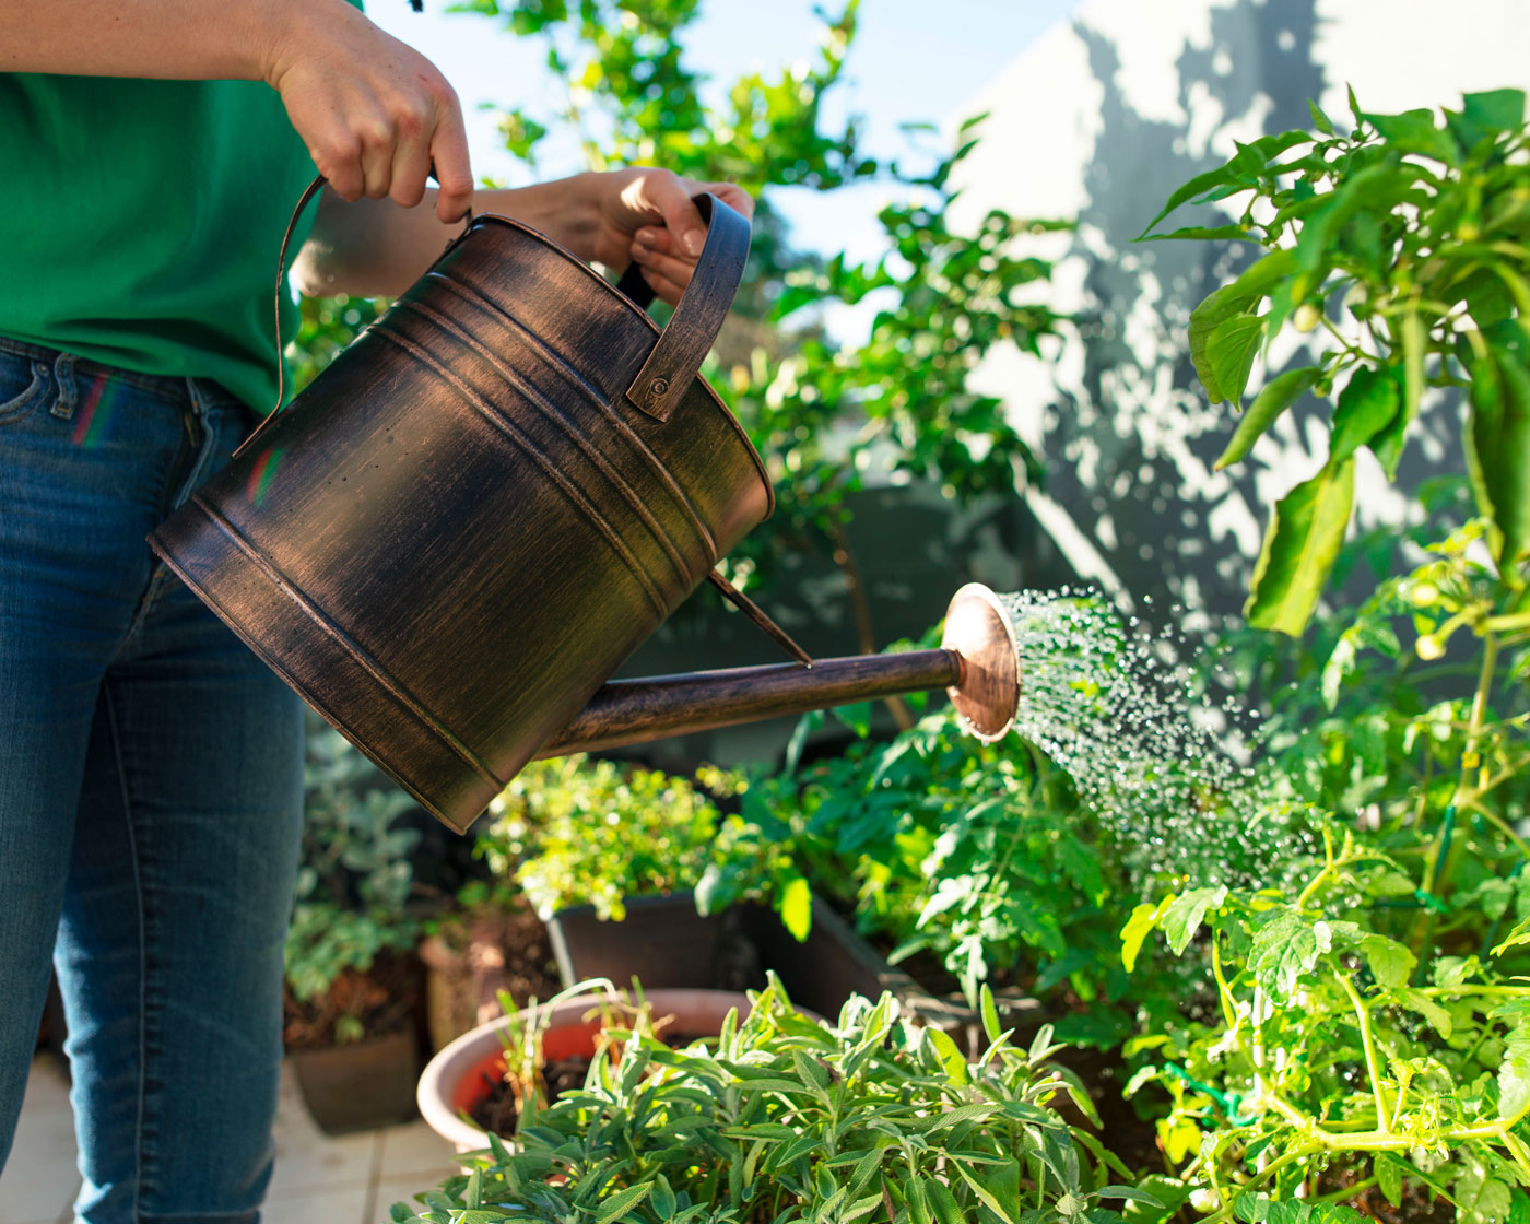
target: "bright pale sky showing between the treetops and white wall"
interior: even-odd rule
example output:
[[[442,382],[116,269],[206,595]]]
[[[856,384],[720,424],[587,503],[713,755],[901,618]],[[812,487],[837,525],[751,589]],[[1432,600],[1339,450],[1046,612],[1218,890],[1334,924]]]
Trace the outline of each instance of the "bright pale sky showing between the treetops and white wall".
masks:
[[[508,8],[508,0],[502,0]],[[1016,55],[1079,0],[863,0],[860,31],[848,61],[848,87],[838,115],[863,116],[868,147],[878,156],[903,151],[903,122],[950,124]],[[829,0],[826,8],[838,11]],[[468,110],[474,173],[513,176],[525,171],[502,151],[483,103],[528,104],[546,90],[542,50],[516,40],[494,18],[447,12],[445,0],[425,0],[425,12],[407,0],[369,0],[367,15],[430,57],[451,80]],[[687,46],[692,66],[728,81],[742,72],[779,70],[817,55],[819,20],[802,0],[702,0]],[[548,165],[549,173],[577,165]],[[884,187],[835,193],[783,193],[777,203],[803,246],[849,248],[861,257],[874,239],[874,217]]]

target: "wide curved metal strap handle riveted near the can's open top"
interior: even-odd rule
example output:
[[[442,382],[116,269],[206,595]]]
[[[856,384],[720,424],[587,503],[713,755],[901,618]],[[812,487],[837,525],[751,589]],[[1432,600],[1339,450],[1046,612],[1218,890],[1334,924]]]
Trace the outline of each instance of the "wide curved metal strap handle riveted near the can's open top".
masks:
[[[744,278],[750,254],[750,222],[713,194],[692,197],[707,222],[707,242],[696,271],[653,350],[627,387],[627,399],[655,421],[669,421],[675,405],[696,379],[701,363],[718,338],[722,320]]]

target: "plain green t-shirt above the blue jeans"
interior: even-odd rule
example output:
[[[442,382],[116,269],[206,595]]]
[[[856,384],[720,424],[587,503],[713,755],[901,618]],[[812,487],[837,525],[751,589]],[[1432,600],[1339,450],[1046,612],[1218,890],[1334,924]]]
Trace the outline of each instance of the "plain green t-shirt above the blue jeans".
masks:
[[[257,81],[0,73],[0,337],[269,412],[277,252],[314,174]]]

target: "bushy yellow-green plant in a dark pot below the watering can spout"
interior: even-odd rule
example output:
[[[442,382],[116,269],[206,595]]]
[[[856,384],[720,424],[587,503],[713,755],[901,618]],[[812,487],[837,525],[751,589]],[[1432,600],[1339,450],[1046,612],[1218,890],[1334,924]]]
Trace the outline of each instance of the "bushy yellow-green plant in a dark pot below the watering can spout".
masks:
[[[477,849],[546,921],[565,984],[745,990],[774,972],[822,1013],[855,991],[916,993],[800,874],[773,886],[768,838],[721,809],[744,786],[715,768],[692,780],[581,756],[536,762],[496,799]]]

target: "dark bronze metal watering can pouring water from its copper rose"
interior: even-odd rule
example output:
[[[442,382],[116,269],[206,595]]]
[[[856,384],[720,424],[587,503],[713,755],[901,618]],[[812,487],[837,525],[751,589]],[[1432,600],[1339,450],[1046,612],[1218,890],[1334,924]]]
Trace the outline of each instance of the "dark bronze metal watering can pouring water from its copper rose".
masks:
[[[956,592],[936,650],[811,661],[713,571],[774,499],[698,375],[750,225],[696,205],[707,242],[662,332],[641,277],[612,286],[529,226],[474,217],[150,536],[459,832],[534,757],[939,687],[984,739],[1013,719],[1014,629],[987,588]],[[797,662],[607,684],[707,580]]]

